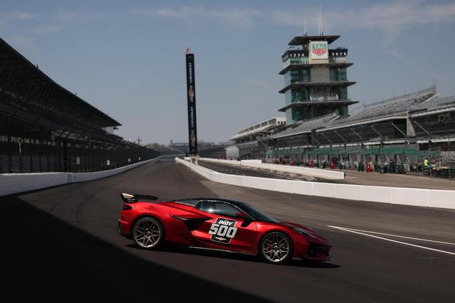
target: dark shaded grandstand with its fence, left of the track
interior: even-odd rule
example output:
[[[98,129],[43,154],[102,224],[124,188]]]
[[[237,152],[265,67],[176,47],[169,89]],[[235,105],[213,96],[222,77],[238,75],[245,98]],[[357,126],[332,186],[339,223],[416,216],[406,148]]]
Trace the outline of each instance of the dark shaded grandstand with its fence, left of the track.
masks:
[[[0,39],[0,173],[100,171],[159,155],[113,134],[120,125]]]

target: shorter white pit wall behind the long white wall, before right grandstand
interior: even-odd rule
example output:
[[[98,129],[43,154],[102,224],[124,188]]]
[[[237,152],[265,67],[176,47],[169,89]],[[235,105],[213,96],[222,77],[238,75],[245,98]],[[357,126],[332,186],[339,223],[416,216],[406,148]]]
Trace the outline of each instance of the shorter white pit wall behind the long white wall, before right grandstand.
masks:
[[[345,173],[343,171],[332,171],[332,170],[328,170],[328,169],[269,164],[269,163],[262,163],[261,160],[236,161],[236,160],[223,160],[223,159],[212,159],[212,158],[199,158],[199,160],[208,161],[208,162],[216,162],[216,163],[233,164],[233,165],[243,165],[245,167],[270,169],[273,171],[285,171],[288,173],[301,174],[301,175],[305,175],[305,176],[312,176],[312,177],[316,177],[316,178],[324,178],[324,179],[330,179],[330,180],[343,180],[345,178]]]

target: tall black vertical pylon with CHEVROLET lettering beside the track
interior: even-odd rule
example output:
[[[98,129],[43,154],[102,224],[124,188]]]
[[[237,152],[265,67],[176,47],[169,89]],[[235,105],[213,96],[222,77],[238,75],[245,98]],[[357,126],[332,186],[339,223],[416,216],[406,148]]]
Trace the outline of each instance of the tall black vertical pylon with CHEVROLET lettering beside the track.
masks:
[[[197,154],[196,83],[194,81],[194,54],[186,54],[186,88],[188,103],[189,154]]]

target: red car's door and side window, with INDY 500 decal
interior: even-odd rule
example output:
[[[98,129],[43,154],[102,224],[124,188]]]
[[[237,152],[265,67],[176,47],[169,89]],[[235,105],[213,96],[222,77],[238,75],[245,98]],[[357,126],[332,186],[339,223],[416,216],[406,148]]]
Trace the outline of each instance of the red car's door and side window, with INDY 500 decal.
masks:
[[[256,222],[250,220],[241,209],[218,200],[201,200],[196,209],[211,218],[192,231],[194,238],[203,247],[251,253],[255,251]],[[236,213],[241,213],[242,216],[236,216]]]

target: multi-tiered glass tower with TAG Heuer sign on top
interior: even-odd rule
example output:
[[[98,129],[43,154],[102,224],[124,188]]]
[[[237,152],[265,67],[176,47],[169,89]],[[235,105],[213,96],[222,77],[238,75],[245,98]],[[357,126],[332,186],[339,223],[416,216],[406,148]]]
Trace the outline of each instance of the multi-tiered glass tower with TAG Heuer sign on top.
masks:
[[[347,97],[347,87],[355,84],[347,79],[347,48],[329,45],[340,36],[295,36],[283,53],[285,106],[287,124],[336,112],[347,116],[347,107],[358,103]]]

